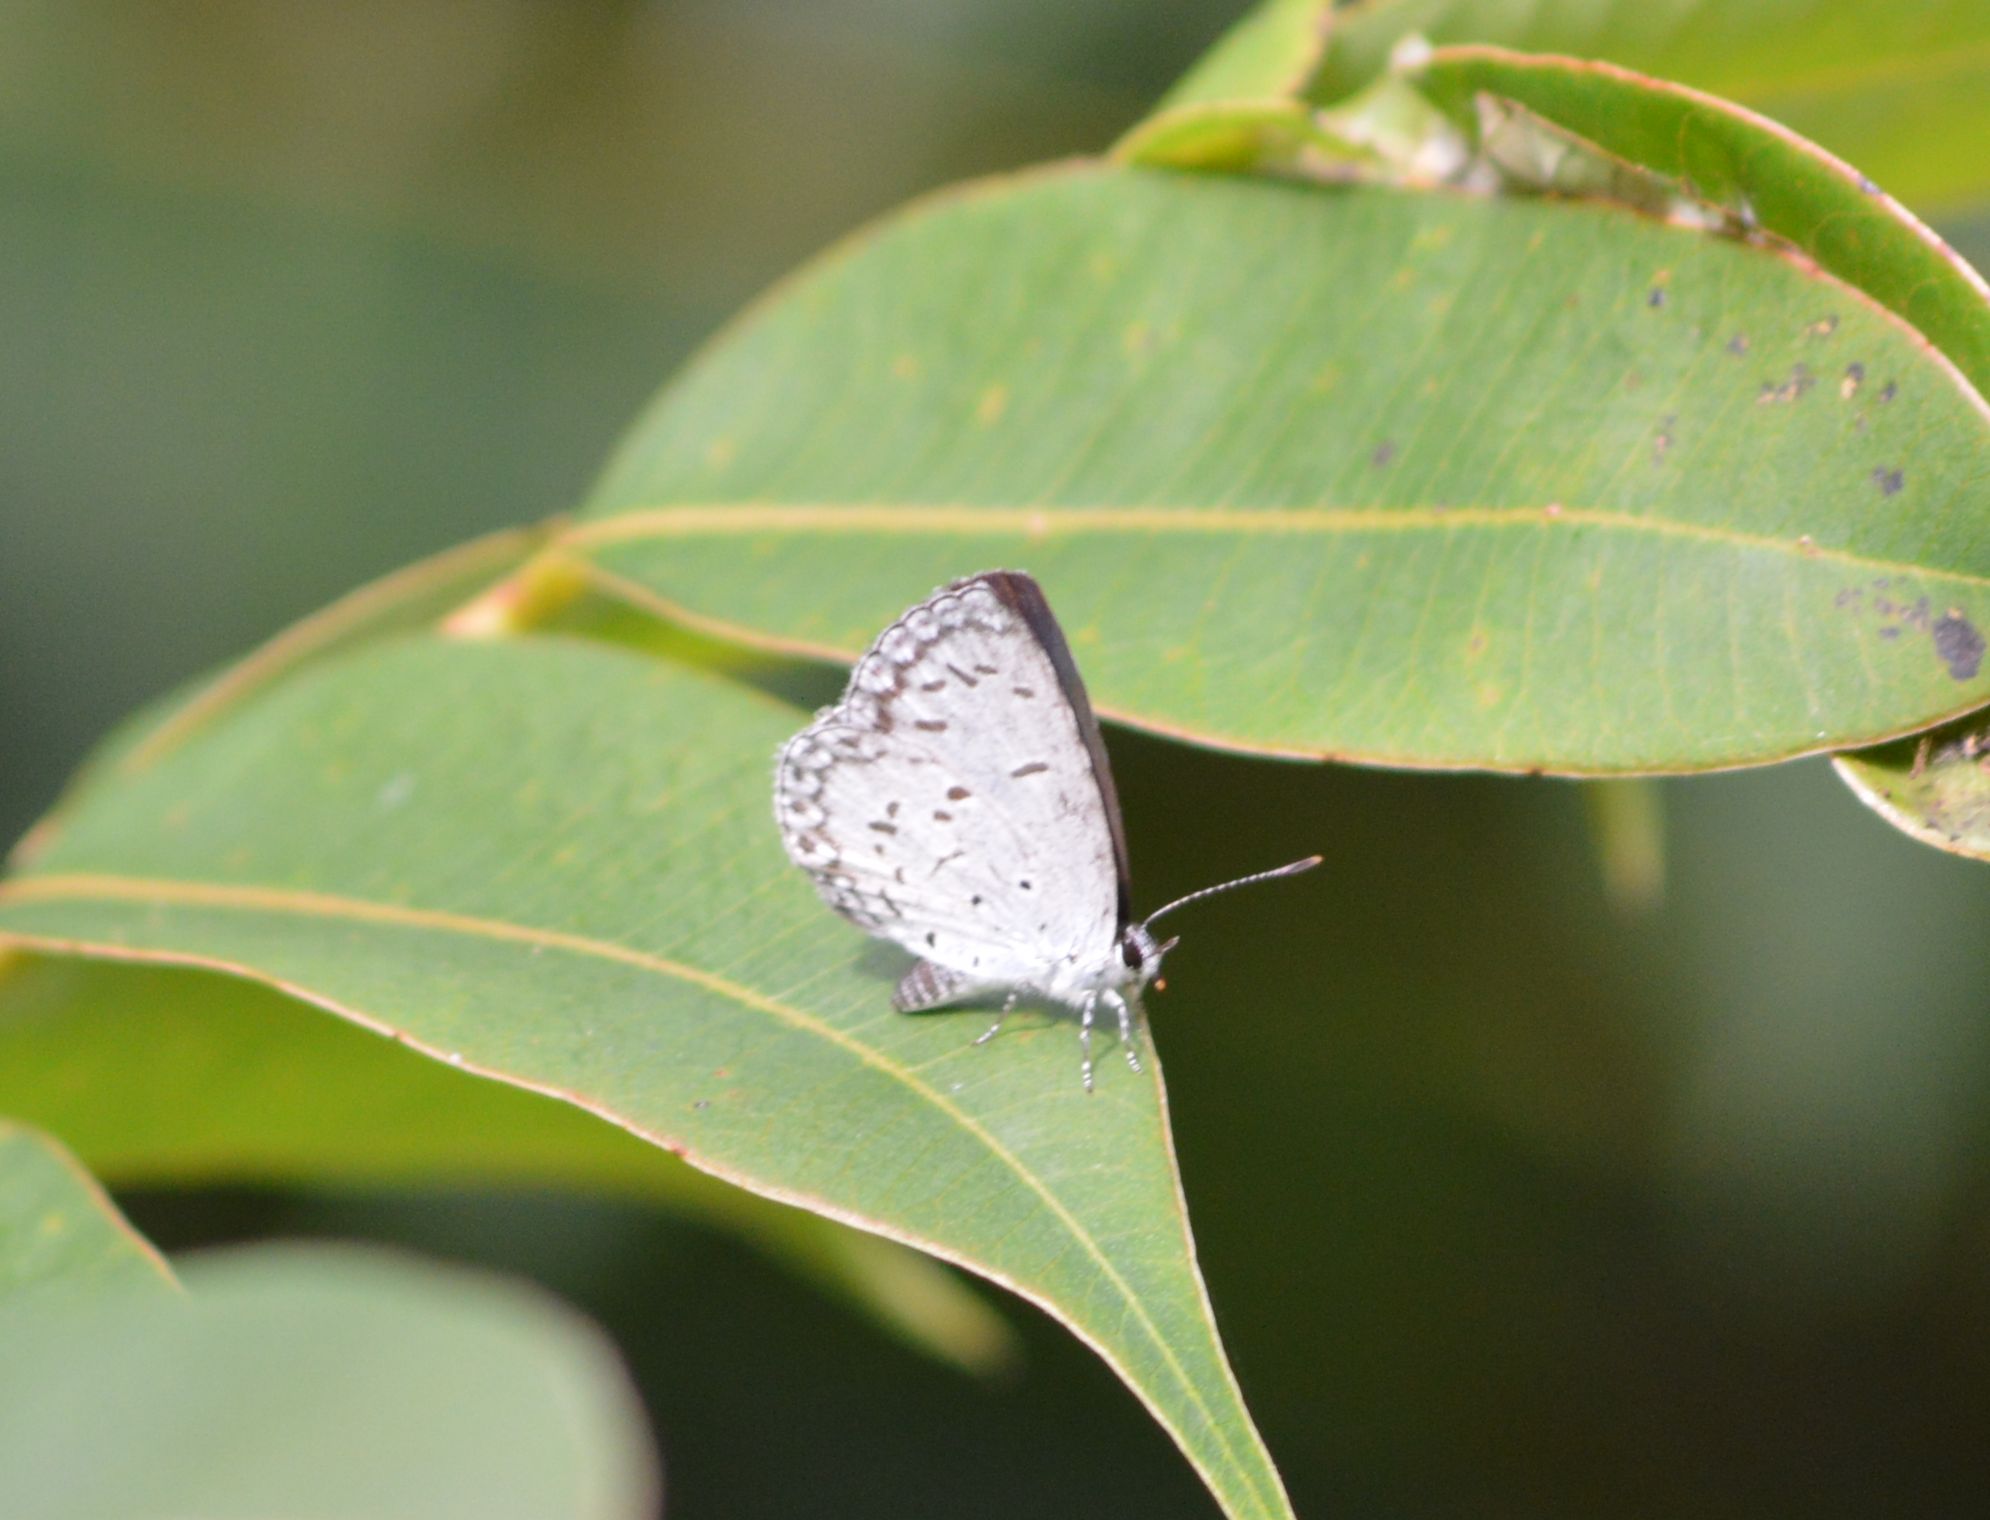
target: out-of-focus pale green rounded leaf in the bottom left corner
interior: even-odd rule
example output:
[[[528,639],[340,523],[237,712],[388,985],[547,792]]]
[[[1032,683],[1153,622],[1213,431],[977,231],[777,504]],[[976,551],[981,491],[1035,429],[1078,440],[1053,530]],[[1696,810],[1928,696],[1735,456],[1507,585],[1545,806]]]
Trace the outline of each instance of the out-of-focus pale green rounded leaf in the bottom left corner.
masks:
[[[0,1317],[0,1514],[643,1520],[647,1423],[537,1293],[356,1251],[193,1259],[189,1295]]]

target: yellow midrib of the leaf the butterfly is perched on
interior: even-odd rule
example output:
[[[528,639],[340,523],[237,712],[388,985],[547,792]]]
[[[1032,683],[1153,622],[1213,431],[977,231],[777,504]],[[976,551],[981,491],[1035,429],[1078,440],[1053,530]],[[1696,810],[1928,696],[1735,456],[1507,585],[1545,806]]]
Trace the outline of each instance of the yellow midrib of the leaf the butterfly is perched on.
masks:
[[[1132,1313],[1134,1321],[1144,1331],[1148,1343],[1160,1353],[1162,1363],[1174,1375],[1178,1387],[1194,1405],[1196,1413],[1204,1419],[1204,1428],[1214,1434],[1224,1450],[1224,1458],[1230,1462],[1230,1470],[1242,1474],[1244,1480],[1256,1490],[1260,1486],[1254,1472],[1254,1464],[1242,1462],[1238,1450],[1230,1440],[1224,1421],[1216,1419],[1210,1407],[1204,1403],[1194,1379],[1188,1377],[1182,1363],[1176,1359],[1168,1339],[1154,1325],[1140,1297],[1132,1291],[1118,1269],[1093,1239],[1091,1232],[1065,1208],[1063,1200],[1051,1192],[1049,1184],[1043,1182],[1023,1158],[1009,1150],[1001,1140],[997,1140],[979,1120],[963,1112],[953,1104],[943,1092],[923,1082],[911,1068],[899,1064],[892,1056],[884,1054],[872,1045],[846,1035],[822,1019],[816,1019],[802,1009],[780,1003],[778,999],[756,993],[750,987],[734,983],[712,971],[702,971],[698,967],[687,965],[683,961],[673,961],[663,955],[651,955],[649,951],[631,949],[627,945],[617,945],[607,939],[593,939],[589,935],[577,935],[563,929],[539,929],[523,923],[507,923],[503,919],[484,919],[470,913],[452,913],[448,909],[430,907],[408,907],[400,903],[376,903],[362,897],[344,897],[338,893],[308,891],[297,887],[269,887],[269,885],[239,885],[239,883],[215,883],[215,881],[175,881],[157,877],[131,877],[113,873],[50,873],[36,877],[18,877],[14,881],[0,881],[0,907],[6,903],[32,903],[32,901],[133,901],[133,903],[169,903],[181,907],[213,907],[213,909],[237,909],[237,911],[263,911],[275,915],[297,915],[297,917],[328,917],[328,919],[348,919],[356,923],[382,923],[400,929],[428,929],[440,933],[460,933],[480,939],[494,939],[513,945],[533,945],[543,949],[565,951],[571,955],[585,955],[605,961],[615,961],[619,965],[629,965],[639,971],[649,971],[655,975],[671,977],[675,981],[685,981],[698,987],[714,997],[724,997],[740,1003],[742,1007],[764,1013],[780,1023],[788,1025],[806,1035],[814,1035],[848,1050],[866,1066],[897,1080],[909,1092],[925,1098],[951,1122],[959,1124],[963,1132],[979,1140],[991,1156],[995,1156],[1003,1166],[1007,1166],[1041,1202],[1051,1210],[1051,1216],[1069,1232],[1069,1235],[1079,1241],[1085,1255],[1098,1267],[1104,1279],[1120,1295],[1126,1309]],[[0,929],[4,937],[6,929]],[[24,935],[30,937],[32,935]],[[123,947],[129,951],[131,947]],[[247,967],[245,967],[247,969]],[[498,1072],[494,1072],[498,1074]],[[1160,1411],[1154,1411],[1160,1415]],[[1164,1421],[1168,1423],[1168,1421]],[[1266,1496],[1258,1494],[1260,1504]],[[1278,1512],[1278,1504],[1270,1504],[1266,1512]]]

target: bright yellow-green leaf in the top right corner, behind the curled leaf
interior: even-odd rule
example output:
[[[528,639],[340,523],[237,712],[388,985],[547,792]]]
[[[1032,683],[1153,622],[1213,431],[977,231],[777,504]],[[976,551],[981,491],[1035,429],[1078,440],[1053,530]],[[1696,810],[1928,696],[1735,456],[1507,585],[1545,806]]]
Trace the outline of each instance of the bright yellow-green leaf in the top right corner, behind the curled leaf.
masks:
[[[1333,101],[1405,36],[1602,58],[1741,101],[1924,211],[1990,195],[1990,6],[1978,0],[1357,0],[1311,86]]]

